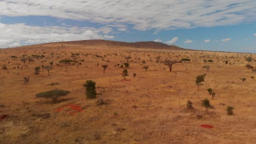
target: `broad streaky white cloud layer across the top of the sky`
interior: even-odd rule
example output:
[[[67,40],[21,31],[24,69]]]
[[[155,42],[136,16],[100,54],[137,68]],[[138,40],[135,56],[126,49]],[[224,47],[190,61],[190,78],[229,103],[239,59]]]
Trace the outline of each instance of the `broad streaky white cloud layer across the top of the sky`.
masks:
[[[163,30],[237,25],[256,21],[256,1],[95,1],[4,0],[0,15],[53,16],[61,19],[115,23],[133,29]],[[123,29],[120,29],[122,31]]]

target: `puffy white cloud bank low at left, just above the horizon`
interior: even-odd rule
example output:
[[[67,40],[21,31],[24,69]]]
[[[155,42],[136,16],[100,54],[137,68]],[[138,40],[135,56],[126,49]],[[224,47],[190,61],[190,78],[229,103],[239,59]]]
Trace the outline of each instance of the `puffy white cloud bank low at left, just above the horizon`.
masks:
[[[114,38],[112,35],[102,35],[105,28],[91,27],[57,27],[57,26],[27,26],[25,23],[6,25],[0,22],[0,47],[14,47],[21,44],[49,43],[53,41],[72,41],[88,39]]]

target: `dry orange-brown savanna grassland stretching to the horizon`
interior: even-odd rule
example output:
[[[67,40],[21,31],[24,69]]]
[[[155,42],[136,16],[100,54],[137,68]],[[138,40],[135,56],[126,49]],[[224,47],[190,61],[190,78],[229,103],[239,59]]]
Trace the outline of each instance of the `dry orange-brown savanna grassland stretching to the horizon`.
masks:
[[[245,67],[247,57],[256,67],[255,54],[158,48],[78,41],[1,49],[0,143],[256,142],[256,73]],[[172,71],[161,63],[182,58],[191,61],[173,64]],[[101,65],[108,65],[105,73]],[[86,98],[86,80],[96,82],[96,99]],[[56,101],[35,97],[53,89],[70,93]],[[201,104],[206,98],[210,109]],[[188,100],[194,109],[187,109]],[[234,115],[227,115],[228,106]]]

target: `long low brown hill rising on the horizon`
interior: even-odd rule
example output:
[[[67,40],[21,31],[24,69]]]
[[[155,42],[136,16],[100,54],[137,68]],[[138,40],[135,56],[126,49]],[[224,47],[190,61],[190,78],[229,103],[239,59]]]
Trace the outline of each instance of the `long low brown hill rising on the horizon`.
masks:
[[[134,47],[134,48],[142,48],[142,49],[168,49],[168,50],[187,50],[182,47],[176,45],[167,45],[164,43],[154,42],[154,41],[139,41],[135,43],[127,43],[123,41],[112,41],[112,40],[78,40],[78,41],[62,41],[56,42],[57,44],[71,44],[71,45],[105,45],[105,46],[117,46],[117,47]],[[56,44],[50,43],[50,44]]]

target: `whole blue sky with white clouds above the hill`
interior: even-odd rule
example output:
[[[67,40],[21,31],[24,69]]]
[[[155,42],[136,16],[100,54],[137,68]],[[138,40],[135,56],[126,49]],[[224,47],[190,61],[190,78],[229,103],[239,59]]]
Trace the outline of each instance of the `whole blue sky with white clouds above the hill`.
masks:
[[[0,48],[105,39],[256,53],[256,1],[0,0],[0,33]]]

